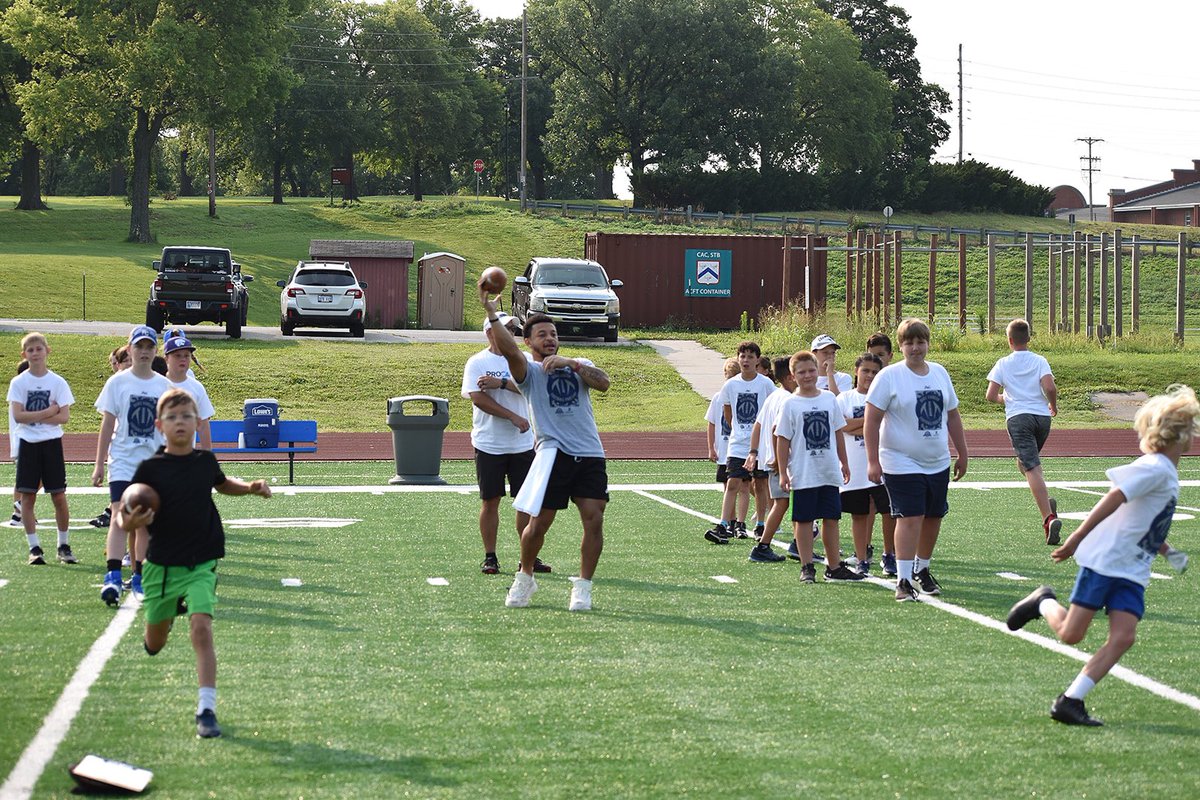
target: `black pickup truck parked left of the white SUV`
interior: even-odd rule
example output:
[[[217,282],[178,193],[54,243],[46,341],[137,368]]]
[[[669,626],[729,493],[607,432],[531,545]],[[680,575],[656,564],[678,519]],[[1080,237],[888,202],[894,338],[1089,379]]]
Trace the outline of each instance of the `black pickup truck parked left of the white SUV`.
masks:
[[[166,325],[216,323],[232,338],[241,338],[250,312],[246,284],[254,276],[242,275],[228,249],[163,247],[154,269],[146,325],[161,332]]]

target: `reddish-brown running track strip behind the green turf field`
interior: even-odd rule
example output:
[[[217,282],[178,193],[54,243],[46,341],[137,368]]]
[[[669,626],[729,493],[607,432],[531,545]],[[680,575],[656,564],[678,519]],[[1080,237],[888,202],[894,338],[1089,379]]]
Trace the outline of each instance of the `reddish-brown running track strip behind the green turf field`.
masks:
[[[967,449],[972,457],[1013,456],[1008,433],[1004,431],[967,431]],[[706,459],[708,446],[703,432],[694,433],[602,433],[605,453],[614,459]],[[299,453],[296,461],[390,461],[391,432],[384,433],[319,433],[316,453]],[[68,462],[92,462],[96,458],[95,433],[68,433],[62,438]],[[7,455],[7,449],[4,449]],[[1042,451],[1046,457],[1109,456],[1133,457],[1138,435],[1130,428],[1100,428],[1090,431],[1055,429]],[[442,458],[472,458],[470,434],[446,432],[443,437]],[[222,461],[262,461],[258,455],[221,453]],[[269,458],[278,458],[270,456]]]

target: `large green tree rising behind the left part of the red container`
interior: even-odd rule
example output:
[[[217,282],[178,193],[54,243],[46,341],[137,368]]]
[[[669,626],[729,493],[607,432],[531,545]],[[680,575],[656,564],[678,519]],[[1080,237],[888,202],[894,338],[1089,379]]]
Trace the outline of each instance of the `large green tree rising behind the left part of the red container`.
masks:
[[[744,55],[740,0],[530,0],[528,16],[554,73],[556,168],[628,157],[637,203],[648,167],[722,151]]]

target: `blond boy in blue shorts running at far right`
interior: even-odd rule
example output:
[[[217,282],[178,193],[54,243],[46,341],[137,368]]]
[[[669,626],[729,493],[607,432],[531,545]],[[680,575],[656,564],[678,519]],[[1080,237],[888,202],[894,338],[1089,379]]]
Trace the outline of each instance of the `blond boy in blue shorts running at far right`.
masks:
[[[1198,425],[1200,402],[1188,386],[1171,386],[1147,401],[1133,423],[1146,455],[1108,471],[1112,488],[1050,554],[1055,561],[1074,555],[1079,564],[1070,607],[1058,603],[1052,588],[1039,587],[1008,612],[1009,630],[1044,616],[1064,644],[1082,640],[1096,612],[1108,613],[1108,639],[1050,706],[1050,717],[1058,722],[1103,724],[1088,716],[1084,698],[1133,646],[1154,555],[1165,555],[1176,569],[1187,567],[1187,557],[1166,545],[1166,534],[1178,497],[1180,457],[1190,449]]]

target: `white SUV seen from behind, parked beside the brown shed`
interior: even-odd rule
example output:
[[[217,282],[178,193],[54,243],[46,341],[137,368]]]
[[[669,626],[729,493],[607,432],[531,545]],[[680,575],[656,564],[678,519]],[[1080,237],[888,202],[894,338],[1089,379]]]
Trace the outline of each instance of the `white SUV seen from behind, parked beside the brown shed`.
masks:
[[[366,283],[354,277],[346,261],[300,261],[280,294],[280,330],[292,336],[296,327],[348,327],[366,336]]]

